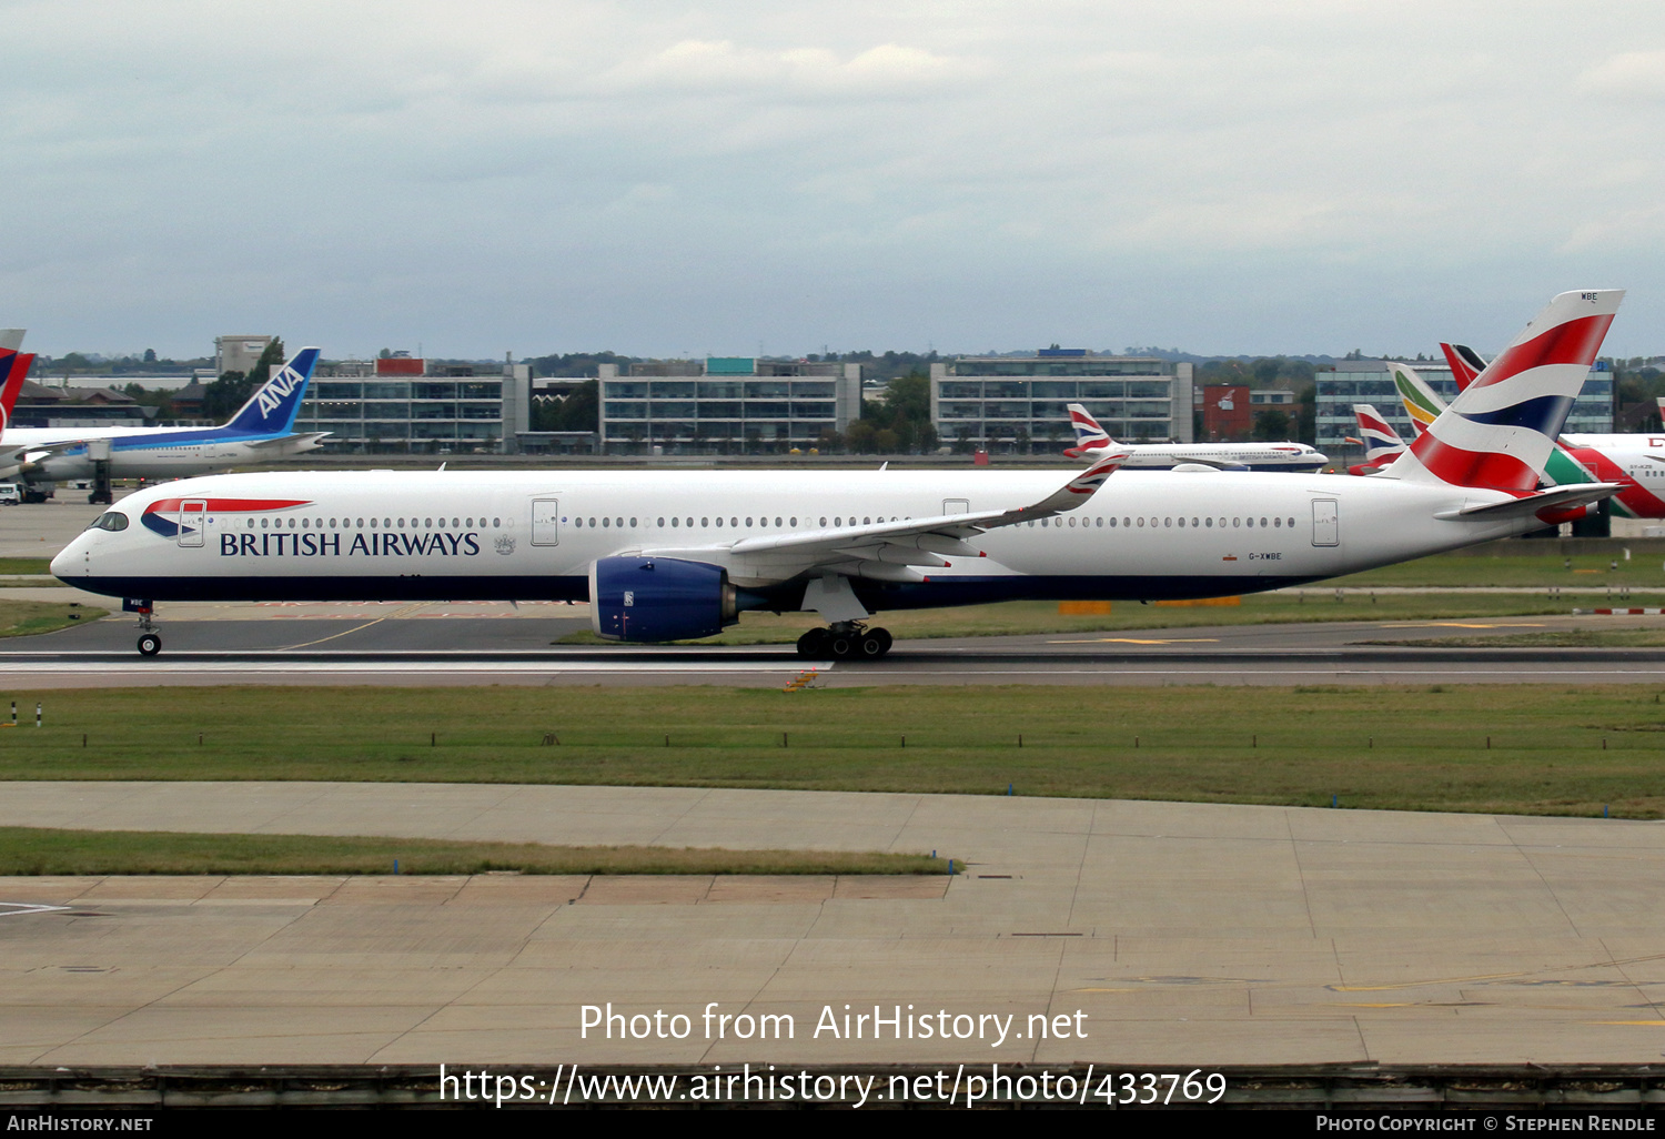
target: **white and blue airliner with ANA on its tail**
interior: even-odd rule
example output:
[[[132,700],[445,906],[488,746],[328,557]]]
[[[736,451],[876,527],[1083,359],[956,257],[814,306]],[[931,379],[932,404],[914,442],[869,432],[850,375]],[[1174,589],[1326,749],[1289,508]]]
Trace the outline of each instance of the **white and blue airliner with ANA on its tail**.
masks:
[[[328,431],[291,428],[316,363],[318,350],[301,348],[216,428],[10,428],[0,438],[0,478],[20,475],[35,486],[90,478],[105,458],[112,478],[180,478],[311,451]]]

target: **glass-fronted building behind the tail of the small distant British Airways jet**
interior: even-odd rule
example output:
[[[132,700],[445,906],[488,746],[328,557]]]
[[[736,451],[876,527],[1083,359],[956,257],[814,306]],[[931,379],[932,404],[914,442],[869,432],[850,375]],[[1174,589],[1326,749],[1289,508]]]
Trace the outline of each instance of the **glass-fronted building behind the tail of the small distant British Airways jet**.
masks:
[[[1159,356],[1042,348],[931,365],[931,420],[944,446],[1027,455],[1074,441],[1081,403],[1124,443],[1190,443],[1192,366]]]

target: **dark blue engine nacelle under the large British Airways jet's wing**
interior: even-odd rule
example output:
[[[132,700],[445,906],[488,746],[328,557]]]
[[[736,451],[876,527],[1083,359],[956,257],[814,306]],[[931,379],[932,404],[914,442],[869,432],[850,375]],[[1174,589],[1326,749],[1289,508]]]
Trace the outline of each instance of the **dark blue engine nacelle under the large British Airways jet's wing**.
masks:
[[[688,641],[738,619],[723,566],[644,555],[589,566],[589,623],[609,641]]]

